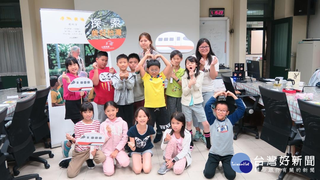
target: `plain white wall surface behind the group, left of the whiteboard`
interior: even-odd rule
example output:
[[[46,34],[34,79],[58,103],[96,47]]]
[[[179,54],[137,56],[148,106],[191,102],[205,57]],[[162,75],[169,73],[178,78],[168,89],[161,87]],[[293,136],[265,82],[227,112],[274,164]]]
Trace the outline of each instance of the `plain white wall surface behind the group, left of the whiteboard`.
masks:
[[[139,45],[139,35],[147,32],[151,35],[153,45],[156,37],[164,32],[181,32],[195,44],[199,40],[199,0],[162,0],[162,1],[91,1],[75,0],[75,10],[97,11],[108,9],[116,12],[124,20],[127,36],[123,45],[111,51],[112,65],[116,65],[116,56],[129,55],[132,52],[142,51]],[[195,53],[183,53],[183,58]],[[169,59],[170,54],[164,54]],[[162,68],[164,64],[162,63]],[[181,62],[184,67],[184,61]],[[115,67],[116,70],[118,67]],[[161,68],[161,69],[162,69]]]

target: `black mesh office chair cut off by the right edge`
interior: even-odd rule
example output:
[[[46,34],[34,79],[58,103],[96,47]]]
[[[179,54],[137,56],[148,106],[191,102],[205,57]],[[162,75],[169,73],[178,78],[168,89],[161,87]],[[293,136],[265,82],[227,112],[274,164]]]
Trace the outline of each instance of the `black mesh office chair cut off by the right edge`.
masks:
[[[320,105],[302,99],[298,99],[298,105],[305,134],[301,150],[301,165],[303,165],[302,168],[308,169],[307,172],[300,171],[299,173],[312,179],[320,179]],[[306,156],[314,156],[314,166],[305,165]],[[310,168],[314,168],[315,172],[310,172]]]

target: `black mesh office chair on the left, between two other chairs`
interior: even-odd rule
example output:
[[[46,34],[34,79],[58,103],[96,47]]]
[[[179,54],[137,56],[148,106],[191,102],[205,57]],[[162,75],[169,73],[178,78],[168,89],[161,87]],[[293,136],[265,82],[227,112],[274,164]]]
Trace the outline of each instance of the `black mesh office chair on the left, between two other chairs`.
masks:
[[[44,163],[46,169],[50,167],[47,160],[38,157],[39,155],[43,155],[41,152],[33,153],[36,149],[29,129],[29,117],[35,99],[36,95],[25,101],[18,102],[13,117],[7,117],[4,120],[5,122],[12,121],[12,123],[6,129],[8,141],[4,143],[1,151],[8,161],[15,161],[15,166],[13,167],[13,174],[15,176],[19,175],[20,172],[17,169],[26,161]],[[7,149],[5,148],[6,143],[8,144]],[[49,154],[49,157],[52,158],[53,154]]]

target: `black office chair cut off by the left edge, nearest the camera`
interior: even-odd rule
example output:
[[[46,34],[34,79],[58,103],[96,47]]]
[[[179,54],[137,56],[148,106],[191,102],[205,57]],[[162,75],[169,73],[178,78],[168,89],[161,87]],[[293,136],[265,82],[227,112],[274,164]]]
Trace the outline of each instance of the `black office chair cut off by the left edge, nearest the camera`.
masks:
[[[7,139],[7,135],[2,133],[2,129],[4,127],[4,118],[7,114],[7,108],[0,111],[0,148],[2,147],[3,143]],[[8,145],[8,144],[7,144]],[[28,174],[24,176],[19,177],[12,177],[10,173],[10,169],[6,167],[6,158],[4,153],[1,153],[0,151],[0,175],[3,180],[28,180],[28,179],[34,179],[41,180],[42,178],[39,177],[39,174]]]

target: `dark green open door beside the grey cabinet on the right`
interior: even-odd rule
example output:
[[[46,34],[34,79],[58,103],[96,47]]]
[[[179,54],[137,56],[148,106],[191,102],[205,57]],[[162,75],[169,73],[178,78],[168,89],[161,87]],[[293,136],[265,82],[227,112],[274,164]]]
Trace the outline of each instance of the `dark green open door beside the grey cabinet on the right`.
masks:
[[[288,78],[291,62],[292,17],[274,20],[271,37],[270,78]]]

